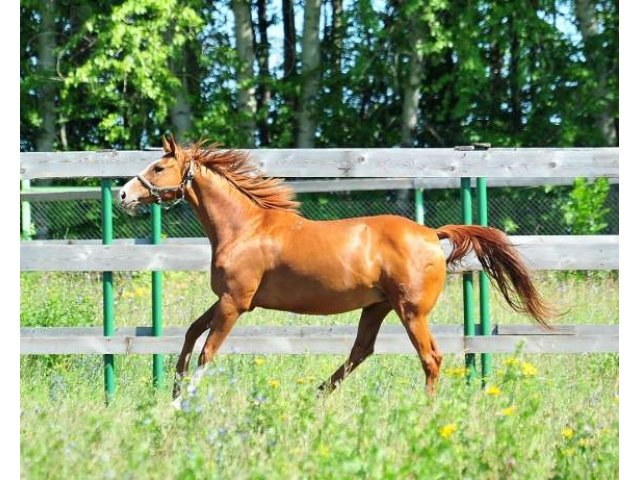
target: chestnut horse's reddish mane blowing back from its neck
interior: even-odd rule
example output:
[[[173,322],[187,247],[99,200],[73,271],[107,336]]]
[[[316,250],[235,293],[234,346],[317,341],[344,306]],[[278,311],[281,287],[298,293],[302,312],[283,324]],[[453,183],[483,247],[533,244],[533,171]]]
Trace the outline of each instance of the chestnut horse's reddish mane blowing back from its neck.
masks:
[[[249,161],[248,152],[221,150],[217,144],[209,147],[204,141],[191,145],[191,158],[199,165],[226,178],[256,205],[262,208],[297,212],[295,194],[282,180],[263,176]]]

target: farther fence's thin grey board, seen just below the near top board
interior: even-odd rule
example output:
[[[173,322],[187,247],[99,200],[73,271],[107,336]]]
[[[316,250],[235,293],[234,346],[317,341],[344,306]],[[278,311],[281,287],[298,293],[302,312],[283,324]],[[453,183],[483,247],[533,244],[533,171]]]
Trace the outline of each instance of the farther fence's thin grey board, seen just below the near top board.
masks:
[[[588,181],[595,180],[594,177]],[[573,185],[575,178],[488,178],[487,186],[492,187],[542,187],[549,185]],[[609,178],[609,183],[617,184],[617,177]],[[332,180],[291,180],[285,182],[297,193],[318,192],[356,192],[374,190],[408,190],[423,188],[425,190],[441,190],[460,187],[460,179],[457,178],[356,178],[356,179],[332,179]],[[475,186],[476,179],[472,179]],[[111,189],[114,198],[120,187]],[[101,192],[99,187],[32,187],[20,192],[21,201],[31,202],[55,202],[68,200],[99,200]]]

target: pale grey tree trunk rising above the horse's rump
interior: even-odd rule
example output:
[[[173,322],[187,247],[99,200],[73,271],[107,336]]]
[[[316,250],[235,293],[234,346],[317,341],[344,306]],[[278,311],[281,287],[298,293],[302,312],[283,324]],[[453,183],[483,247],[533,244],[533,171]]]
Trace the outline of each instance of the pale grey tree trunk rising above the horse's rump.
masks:
[[[424,68],[424,54],[416,48],[422,38],[416,19],[409,22],[409,72],[404,87],[402,99],[402,116],[400,142],[403,147],[412,147],[415,141],[416,126],[418,124],[418,105],[420,103],[420,87],[422,70]]]

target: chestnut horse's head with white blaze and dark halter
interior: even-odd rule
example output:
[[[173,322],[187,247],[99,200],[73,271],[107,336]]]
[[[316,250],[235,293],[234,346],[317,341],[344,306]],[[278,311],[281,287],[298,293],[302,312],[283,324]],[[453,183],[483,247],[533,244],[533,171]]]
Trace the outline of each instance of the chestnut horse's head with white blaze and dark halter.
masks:
[[[143,205],[165,203],[184,198],[193,179],[193,165],[188,152],[176,144],[173,136],[162,137],[165,154],[129,180],[120,189],[120,206],[135,213]]]

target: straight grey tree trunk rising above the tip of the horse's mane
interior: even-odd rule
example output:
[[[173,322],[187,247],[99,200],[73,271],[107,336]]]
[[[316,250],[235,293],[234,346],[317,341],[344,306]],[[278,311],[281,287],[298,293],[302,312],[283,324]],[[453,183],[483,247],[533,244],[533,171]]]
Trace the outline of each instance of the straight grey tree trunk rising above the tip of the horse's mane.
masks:
[[[302,32],[302,95],[298,109],[298,148],[315,145],[315,99],[319,85],[320,67],[320,4],[321,0],[307,0],[304,8]]]

